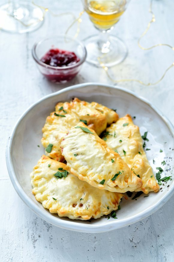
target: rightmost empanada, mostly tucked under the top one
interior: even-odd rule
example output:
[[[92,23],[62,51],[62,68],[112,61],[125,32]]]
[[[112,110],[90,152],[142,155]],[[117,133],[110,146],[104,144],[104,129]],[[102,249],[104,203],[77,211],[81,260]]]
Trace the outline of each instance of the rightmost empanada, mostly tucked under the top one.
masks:
[[[120,118],[107,128],[109,134],[104,138],[107,145],[117,150],[122,159],[143,181],[142,187],[135,191],[158,192],[159,186],[143,150],[143,140],[138,126],[135,126],[130,115]],[[126,154],[123,153],[126,151]]]

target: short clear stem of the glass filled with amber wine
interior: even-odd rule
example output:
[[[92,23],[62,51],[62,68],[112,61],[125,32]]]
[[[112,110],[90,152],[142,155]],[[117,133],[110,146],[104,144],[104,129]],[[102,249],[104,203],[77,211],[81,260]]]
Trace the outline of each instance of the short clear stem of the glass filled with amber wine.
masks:
[[[110,40],[108,31],[100,31],[98,48],[103,54],[107,54],[110,51]]]

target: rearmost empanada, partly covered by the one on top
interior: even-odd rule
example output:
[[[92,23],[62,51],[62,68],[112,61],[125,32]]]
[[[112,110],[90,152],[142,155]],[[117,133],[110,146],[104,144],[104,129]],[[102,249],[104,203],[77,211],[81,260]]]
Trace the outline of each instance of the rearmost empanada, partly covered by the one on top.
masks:
[[[52,112],[46,118],[46,123],[42,129],[41,143],[44,148],[50,145],[49,150],[46,149],[45,151],[47,156],[58,161],[64,161],[60,143],[71,127],[75,126],[80,120],[93,128],[98,135],[106,129],[107,123],[118,120],[118,114],[113,110],[98,103],[91,104],[74,98],[70,103],[59,102],[56,105],[55,112]],[[101,112],[95,107],[99,107],[100,110],[103,107],[103,111]]]

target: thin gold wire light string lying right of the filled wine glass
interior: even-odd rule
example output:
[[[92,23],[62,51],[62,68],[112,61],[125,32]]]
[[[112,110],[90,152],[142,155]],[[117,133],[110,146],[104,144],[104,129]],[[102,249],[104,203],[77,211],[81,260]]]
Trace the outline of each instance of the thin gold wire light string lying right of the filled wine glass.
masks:
[[[157,45],[153,45],[153,46],[151,46],[151,47],[149,47],[149,48],[144,48],[143,46],[140,45],[140,40],[143,38],[143,36],[146,35],[146,33],[148,32],[151,24],[156,21],[156,20],[155,20],[155,15],[154,15],[154,13],[153,13],[153,11],[152,11],[152,1],[153,1],[153,0],[151,0],[151,2],[150,2],[150,8],[149,8],[149,13],[152,14],[152,19],[151,19],[150,22],[148,23],[148,26],[147,26],[146,30],[144,31],[144,33],[143,33],[143,34],[140,36],[140,38],[138,39],[138,46],[139,46],[141,49],[143,49],[143,50],[150,50],[150,49],[155,48],[155,47],[157,47],[157,46],[168,46],[169,48],[171,48],[172,50],[174,50],[174,47],[172,47],[171,45],[168,45],[168,44],[157,44]],[[102,58],[102,57],[101,57],[101,58]],[[158,81],[154,82],[154,83],[150,83],[150,82],[149,82],[149,83],[144,83],[143,81],[138,80],[138,79],[120,79],[120,80],[115,80],[115,79],[113,79],[113,78],[110,76],[110,74],[108,73],[108,67],[106,67],[106,66],[104,65],[104,63],[102,63],[101,58],[98,57],[98,61],[99,61],[100,65],[101,65],[101,67],[105,70],[108,78],[109,78],[112,82],[115,82],[115,83],[120,83],[120,82],[137,82],[137,83],[140,83],[140,84],[143,85],[143,86],[154,86],[154,85],[160,83],[161,80],[163,80],[164,76],[166,75],[167,71],[169,71],[169,70],[174,66],[174,62],[173,62],[173,64],[171,64],[169,67],[167,67],[167,69],[164,71],[164,74],[161,76],[161,78],[160,78]]]

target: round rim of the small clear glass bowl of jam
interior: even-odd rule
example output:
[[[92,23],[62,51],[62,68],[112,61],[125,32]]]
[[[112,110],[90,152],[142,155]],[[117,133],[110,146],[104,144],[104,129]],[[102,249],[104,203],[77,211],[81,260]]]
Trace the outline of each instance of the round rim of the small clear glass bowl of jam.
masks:
[[[46,41],[48,39],[53,39],[53,38],[64,38],[64,39],[66,38],[66,39],[70,39],[71,41],[74,41],[74,42],[78,43],[82,47],[82,49],[83,49],[83,56],[80,59],[80,61],[77,62],[74,65],[70,65],[70,66],[66,66],[66,67],[53,67],[53,66],[50,66],[50,65],[47,65],[47,64],[43,63],[37,56],[36,48],[37,48],[38,45],[40,45],[44,41]],[[65,50],[65,51],[67,51],[67,50]],[[85,60],[86,60],[87,51],[86,51],[85,45],[81,41],[79,41],[79,40],[77,40],[77,39],[75,39],[75,38],[73,38],[72,36],[69,36],[69,35],[58,34],[58,35],[55,35],[55,36],[49,36],[49,37],[46,37],[46,38],[42,38],[39,41],[35,42],[35,44],[32,47],[32,56],[33,56],[34,60],[36,61],[36,63],[38,63],[39,65],[41,65],[43,67],[46,67],[46,68],[49,68],[49,69],[54,69],[54,70],[55,69],[57,69],[57,70],[67,70],[67,69],[71,69],[71,68],[76,68],[76,67],[80,66],[81,64],[83,64],[85,62]]]

